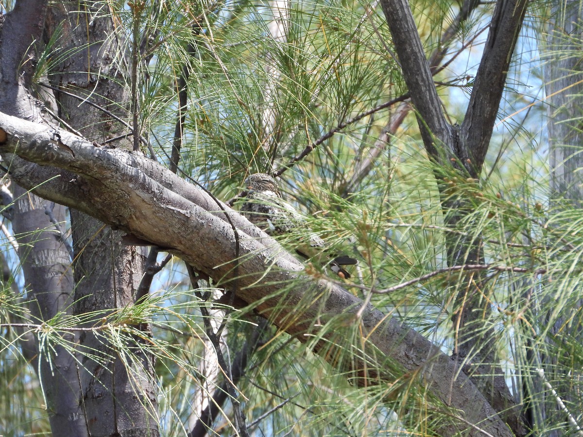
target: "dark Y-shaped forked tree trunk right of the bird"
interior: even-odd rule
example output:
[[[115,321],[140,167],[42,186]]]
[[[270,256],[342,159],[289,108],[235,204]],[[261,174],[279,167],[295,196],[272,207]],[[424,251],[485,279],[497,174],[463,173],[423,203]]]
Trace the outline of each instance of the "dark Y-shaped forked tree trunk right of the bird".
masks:
[[[456,174],[459,182],[478,182],[498,114],[512,52],[524,19],[526,0],[499,1],[490,23],[484,53],[477,70],[468,108],[461,125],[450,125],[433,83],[429,62],[406,0],[381,0],[403,78],[417,110],[419,129],[427,154],[441,164],[436,174],[444,207],[444,223],[460,234],[446,233],[449,266],[481,263],[482,237],[468,217],[469,199],[451,196],[442,177]],[[472,10],[472,3],[464,8]],[[449,169],[449,170],[448,170]],[[460,226],[463,224],[463,226]],[[453,358],[462,365],[491,405],[509,422],[517,435],[524,434],[504,373],[496,356],[496,336],[490,319],[490,299],[484,295],[479,272],[468,275],[457,291],[452,323],[455,330]]]

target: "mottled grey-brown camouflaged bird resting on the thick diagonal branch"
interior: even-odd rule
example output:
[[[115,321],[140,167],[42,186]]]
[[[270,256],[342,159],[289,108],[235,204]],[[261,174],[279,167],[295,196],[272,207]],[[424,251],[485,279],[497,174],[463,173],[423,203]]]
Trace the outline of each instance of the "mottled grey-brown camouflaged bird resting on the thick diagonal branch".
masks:
[[[241,197],[245,197],[241,212],[251,223],[273,237],[291,232],[298,234],[298,230],[305,229],[305,234],[298,237],[296,252],[304,258],[329,264],[332,272],[344,279],[350,277],[342,266],[354,265],[356,259],[349,256],[330,259],[324,240],[305,227],[305,220],[283,200],[275,179],[265,173],[255,173],[245,179],[245,187],[247,190],[241,193]]]

